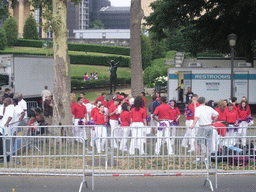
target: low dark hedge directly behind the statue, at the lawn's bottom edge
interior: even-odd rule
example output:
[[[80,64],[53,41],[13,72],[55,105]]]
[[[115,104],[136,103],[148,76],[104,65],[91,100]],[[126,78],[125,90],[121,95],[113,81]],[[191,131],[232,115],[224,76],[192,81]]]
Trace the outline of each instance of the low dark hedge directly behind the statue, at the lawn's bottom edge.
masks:
[[[131,84],[131,78],[118,78],[118,85],[127,85]],[[109,87],[110,80],[109,79],[94,79],[90,81],[84,81],[83,79],[71,79],[71,89],[95,89],[95,88],[103,88]]]

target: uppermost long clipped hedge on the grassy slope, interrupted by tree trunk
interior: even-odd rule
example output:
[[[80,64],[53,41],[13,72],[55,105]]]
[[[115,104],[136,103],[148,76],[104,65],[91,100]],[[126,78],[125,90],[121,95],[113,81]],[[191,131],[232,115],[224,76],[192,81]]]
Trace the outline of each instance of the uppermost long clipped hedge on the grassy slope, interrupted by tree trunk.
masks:
[[[46,41],[43,40],[31,40],[31,39],[18,39],[14,46],[19,47],[43,47]],[[69,51],[84,51],[84,52],[96,52],[106,53],[114,55],[126,55],[130,56],[129,47],[117,47],[108,45],[93,45],[93,44],[82,44],[82,43],[68,43]]]

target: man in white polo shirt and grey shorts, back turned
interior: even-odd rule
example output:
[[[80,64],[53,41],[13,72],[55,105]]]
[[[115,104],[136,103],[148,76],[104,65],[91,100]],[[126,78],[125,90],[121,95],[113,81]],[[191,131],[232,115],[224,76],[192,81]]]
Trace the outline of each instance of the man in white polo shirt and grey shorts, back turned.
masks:
[[[198,130],[198,137],[206,137],[209,141],[209,143],[212,143],[212,131],[213,127],[212,124],[214,124],[218,117],[219,113],[215,111],[213,108],[205,105],[205,98],[200,97],[198,99],[198,103],[200,104],[195,109],[195,117],[193,124],[190,126],[191,129],[193,129],[198,122],[199,130]],[[214,117],[214,119],[212,119]],[[201,147],[202,151],[205,153],[205,140],[201,140]],[[199,156],[199,147],[197,147],[197,155]],[[196,159],[196,162],[200,161],[200,158]]]

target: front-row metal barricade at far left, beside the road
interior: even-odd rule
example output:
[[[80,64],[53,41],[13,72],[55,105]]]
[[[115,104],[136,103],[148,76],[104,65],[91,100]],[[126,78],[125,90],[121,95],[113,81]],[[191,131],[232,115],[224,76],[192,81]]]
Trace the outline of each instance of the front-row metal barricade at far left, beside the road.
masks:
[[[85,173],[92,169],[87,164],[92,158],[86,157],[84,138],[79,138],[79,141],[77,137],[67,136],[1,136],[1,138],[4,164],[0,163],[0,174],[82,176],[79,191],[82,190],[83,184],[87,187]]]

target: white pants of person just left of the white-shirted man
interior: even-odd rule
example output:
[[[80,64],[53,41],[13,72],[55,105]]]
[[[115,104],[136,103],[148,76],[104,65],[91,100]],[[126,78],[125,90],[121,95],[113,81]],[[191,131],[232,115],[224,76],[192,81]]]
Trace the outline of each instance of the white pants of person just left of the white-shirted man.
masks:
[[[190,149],[195,150],[195,137],[197,134],[198,123],[195,125],[193,129],[190,129],[190,126],[193,124],[194,120],[186,120],[186,133],[184,135],[184,139],[182,140],[181,145],[187,147],[189,143]]]

